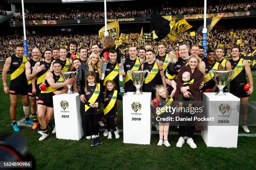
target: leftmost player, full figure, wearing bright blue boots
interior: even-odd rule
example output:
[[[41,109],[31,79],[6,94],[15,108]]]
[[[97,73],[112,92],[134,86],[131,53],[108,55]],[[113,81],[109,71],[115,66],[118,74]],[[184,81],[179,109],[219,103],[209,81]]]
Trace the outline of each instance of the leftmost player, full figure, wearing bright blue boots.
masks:
[[[25,74],[25,64],[28,61],[24,56],[23,44],[16,46],[16,54],[8,57],[3,67],[2,81],[4,92],[10,93],[10,117],[13,122],[13,130],[19,132],[20,128],[16,122],[16,107],[18,103],[18,95],[20,95],[23,103],[23,111],[25,113],[25,123],[33,125],[29,119],[29,101],[28,101],[28,82]],[[7,85],[7,72],[10,69],[10,88]]]

